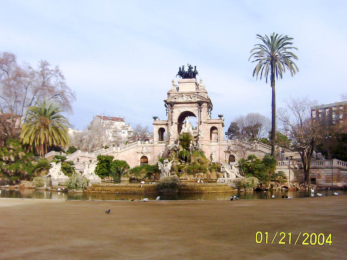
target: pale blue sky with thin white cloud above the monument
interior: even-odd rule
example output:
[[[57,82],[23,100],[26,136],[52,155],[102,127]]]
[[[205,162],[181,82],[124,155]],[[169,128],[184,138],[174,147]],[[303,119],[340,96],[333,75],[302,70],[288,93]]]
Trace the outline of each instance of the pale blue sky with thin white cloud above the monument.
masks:
[[[346,1],[2,1],[0,52],[59,65],[76,92],[75,129],[96,113],[152,128],[178,68],[197,66],[225,128],[239,115],[271,117],[271,87],[252,77],[256,34],[293,37],[299,72],[276,81],[277,107],[318,104],[347,91]]]

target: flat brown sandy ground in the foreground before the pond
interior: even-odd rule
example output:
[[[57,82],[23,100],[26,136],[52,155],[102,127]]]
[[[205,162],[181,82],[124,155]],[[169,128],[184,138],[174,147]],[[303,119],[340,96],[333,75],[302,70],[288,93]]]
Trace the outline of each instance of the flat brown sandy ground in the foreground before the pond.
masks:
[[[104,213],[111,209],[110,214]],[[0,198],[0,259],[347,259],[347,196],[237,201]],[[268,232],[268,244],[255,233]],[[279,244],[276,233],[292,233]],[[332,234],[302,245],[301,233]],[[314,242],[314,236],[312,237]]]

